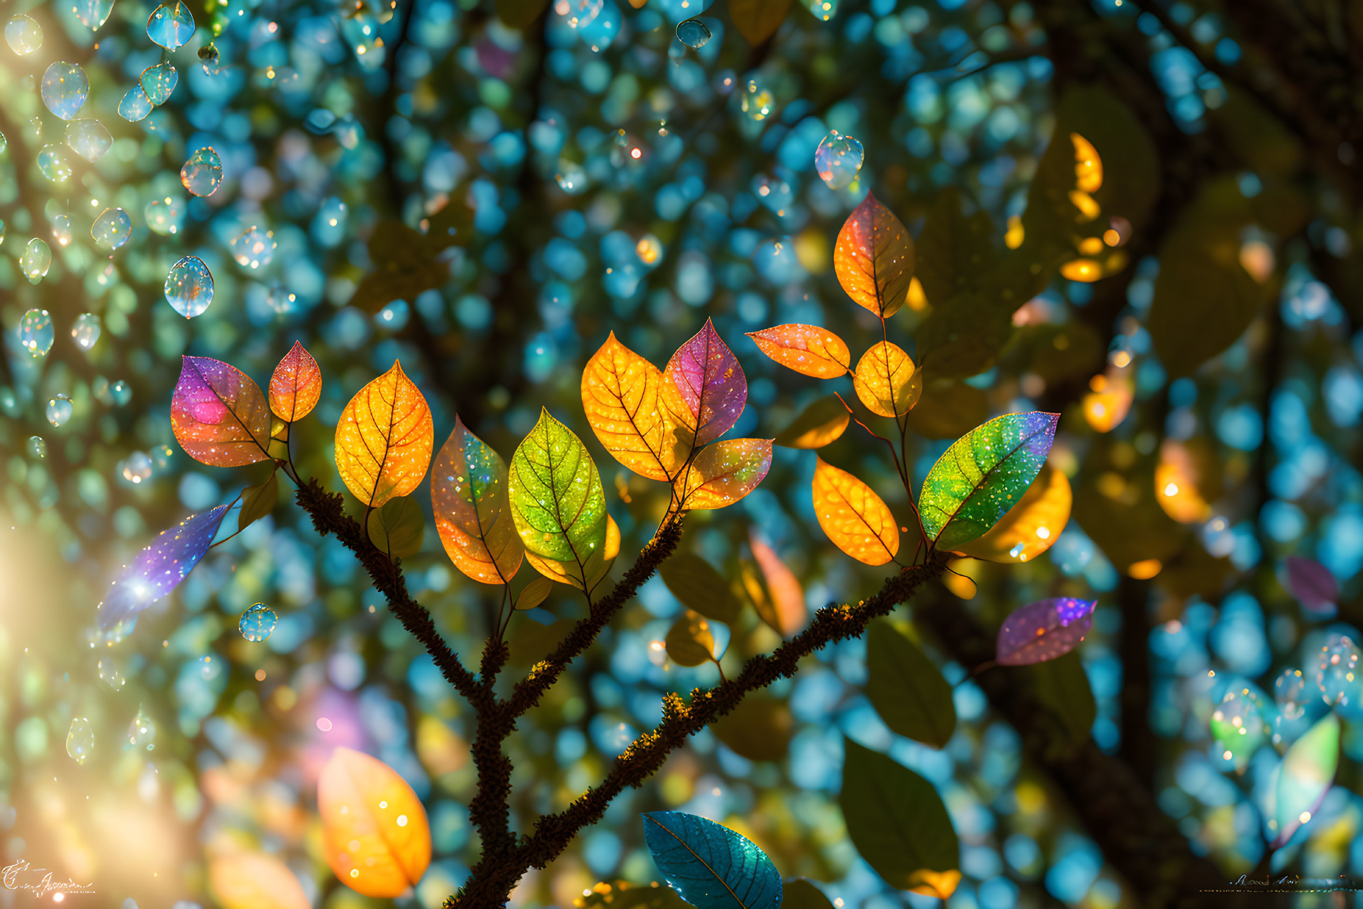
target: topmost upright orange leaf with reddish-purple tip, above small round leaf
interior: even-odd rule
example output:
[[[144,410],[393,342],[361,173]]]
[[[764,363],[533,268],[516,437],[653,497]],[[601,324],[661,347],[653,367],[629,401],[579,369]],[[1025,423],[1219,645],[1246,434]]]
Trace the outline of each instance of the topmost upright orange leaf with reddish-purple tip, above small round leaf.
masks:
[[[893,211],[867,194],[838,232],[833,270],[857,305],[889,319],[909,296],[913,238]]]

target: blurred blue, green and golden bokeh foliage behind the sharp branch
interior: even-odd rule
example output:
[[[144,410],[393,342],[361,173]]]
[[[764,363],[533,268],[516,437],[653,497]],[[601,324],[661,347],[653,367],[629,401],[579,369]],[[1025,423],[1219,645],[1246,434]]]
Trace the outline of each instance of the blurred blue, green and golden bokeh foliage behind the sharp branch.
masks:
[[[285,861],[315,905],[375,905],[319,853],[316,777],[343,744],[425,800],[436,857],[399,902],[440,905],[477,857],[468,706],[286,493],[125,638],[94,628],[108,583],[151,536],[264,480],[263,467],[210,473],[174,444],[180,354],[263,383],[303,341],[324,386],[294,458],[334,489],[341,409],[395,358],[442,440],[458,413],[508,455],[547,406],[593,450],[628,559],[667,495],[597,446],[582,363],[613,330],[661,364],[713,319],[750,380],[735,433],[776,436],[829,388],[778,369],[743,333],[800,322],[855,350],[879,339],[831,267],[838,228],[874,191],[920,241],[920,292],[890,330],[919,358],[946,350],[928,357],[910,417],[915,482],[990,416],[1058,412],[1051,463],[1073,488],[1073,519],[1040,557],[955,563],[962,576],[912,613],[910,632],[958,683],[942,750],[894,735],[871,707],[864,641],[829,647],[752,711],[771,726],[759,743],[746,743],[752,724],[696,736],[515,902],[566,908],[600,879],[654,879],[637,815],[677,808],[740,830],[840,908],[932,905],[891,890],[848,841],[844,735],[942,795],[961,841],[954,909],[1164,904],[1167,879],[1137,874],[1161,825],[1178,830],[1180,867],[1202,869],[1193,878],[1266,867],[1266,781],[1300,735],[1292,707],[1315,694],[1274,679],[1314,676],[1322,645],[1358,641],[1363,621],[1358,4],[692,4],[195,0],[198,30],[165,53],[140,0],[7,7],[41,27],[41,45],[20,29],[0,49],[5,864],[95,880],[90,905],[161,906],[209,902],[207,859],[247,846]],[[574,27],[585,10],[590,25]],[[711,34],[701,48],[676,37],[696,14]],[[144,119],[121,117],[162,59],[180,84]],[[67,153],[65,123],[40,98],[61,60],[83,67],[82,116],[110,134],[94,164]],[[833,129],[866,150],[841,189],[814,170]],[[1105,170],[1078,234],[1054,215],[1043,158],[1050,146],[1052,164],[1073,166],[1070,132]],[[188,195],[180,168],[207,146],[222,184]],[[90,234],[106,207],[131,217],[112,255]],[[924,248],[934,211],[961,230]],[[239,264],[233,243],[252,228],[273,248]],[[52,251],[38,282],[26,279],[30,238]],[[1044,262],[1035,296],[1000,318],[953,293],[1010,249]],[[192,320],[162,289],[187,255],[214,281]],[[23,323],[31,309],[49,323]],[[833,388],[851,397],[851,379]],[[893,466],[855,427],[822,455],[904,511]],[[811,452],[777,448],[756,492],[688,521],[683,548],[744,601],[732,641],[717,642],[725,666],[777,642],[747,608],[774,593],[769,553],[810,612],[880,583],[816,529],[812,472]],[[1299,602],[1293,555],[1341,591]],[[455,650],[477,653],[488,591],[453,571],[435,533],[403,567]],[[1037,695],[1045,715],[996,676],[966,679],[981,630],[1043,596],[1099,600],[1082,673],[1074,660],[1069,681]],[[255,602],[279,617],[263,643],[237,631]],[[713,664],[650,650],[680,612],[650,581],[522,720],[508,741],[512,829],[597,781],[658,721],[661,692],[718,679]],[[514,661],[578,615],[556,590],[517,616]],[[1255,692],[1274,728],[1253,756],[1209,726],[1235,690]],[[1363,722],[1341,713],[1337,785],[1278,867],[1363,874]],[[80,763],[67,754],[74,718],[93,743],[85,755],[79,726]],[[1118,786],[1149,816],[1114,816],[1104,793]],[[1118,835],[1123,825],[1135,835]],[[23,898],[0,890],[0,906]]]

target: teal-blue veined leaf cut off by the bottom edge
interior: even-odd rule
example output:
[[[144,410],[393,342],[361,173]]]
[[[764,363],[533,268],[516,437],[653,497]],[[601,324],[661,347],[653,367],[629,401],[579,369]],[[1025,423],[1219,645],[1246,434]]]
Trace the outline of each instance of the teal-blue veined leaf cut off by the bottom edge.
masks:
[[[643,842],[682,898],[698,909],[777,909],[781,875],[747,837],[680,811],[643,815]]]

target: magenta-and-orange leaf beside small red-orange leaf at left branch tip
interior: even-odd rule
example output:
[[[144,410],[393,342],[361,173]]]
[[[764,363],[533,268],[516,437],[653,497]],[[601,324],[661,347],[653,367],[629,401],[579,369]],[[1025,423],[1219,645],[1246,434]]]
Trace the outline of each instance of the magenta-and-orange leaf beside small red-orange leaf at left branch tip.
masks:
[[[221,360],[183,358],[170,428],[185,454],[213,467],[270,458],[270,407],[260,386]]]

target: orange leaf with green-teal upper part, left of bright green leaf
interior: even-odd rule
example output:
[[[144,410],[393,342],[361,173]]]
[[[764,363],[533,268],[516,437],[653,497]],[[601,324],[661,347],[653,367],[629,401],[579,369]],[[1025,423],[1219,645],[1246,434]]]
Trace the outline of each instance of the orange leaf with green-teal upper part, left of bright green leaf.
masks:
[[[431,507],[455,568],[483,583],[515,576],[525,546],[511,521],[507,463],[458,416],[431,467]]]

